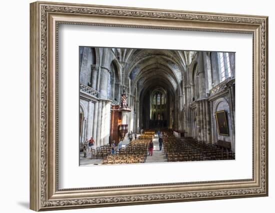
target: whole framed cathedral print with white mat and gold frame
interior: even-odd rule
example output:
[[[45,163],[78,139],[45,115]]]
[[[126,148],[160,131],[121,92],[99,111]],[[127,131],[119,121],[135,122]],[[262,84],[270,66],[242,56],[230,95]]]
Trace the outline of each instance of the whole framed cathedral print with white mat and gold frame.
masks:
[[[31,3],[30,209],[267,196],[267,76],[266,16]]]

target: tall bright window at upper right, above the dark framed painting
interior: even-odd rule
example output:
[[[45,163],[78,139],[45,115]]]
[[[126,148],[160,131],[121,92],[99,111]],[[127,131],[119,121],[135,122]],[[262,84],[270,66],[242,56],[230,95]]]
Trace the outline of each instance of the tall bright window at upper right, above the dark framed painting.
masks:
[[[218,57],[218,70],[219,81],[224,81],[226,78],[231,77],[231,69],[229,62],[228,52],[217,52]]]

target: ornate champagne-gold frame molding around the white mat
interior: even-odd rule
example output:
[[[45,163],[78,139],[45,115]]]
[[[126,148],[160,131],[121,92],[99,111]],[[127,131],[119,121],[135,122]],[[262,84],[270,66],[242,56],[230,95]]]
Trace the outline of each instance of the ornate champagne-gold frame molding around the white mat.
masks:
[[[59,190],[58,24],[252,34],[252,179]],[[267,196],[267,26],[266,16],[31,3],[30,209],[46,211]]]

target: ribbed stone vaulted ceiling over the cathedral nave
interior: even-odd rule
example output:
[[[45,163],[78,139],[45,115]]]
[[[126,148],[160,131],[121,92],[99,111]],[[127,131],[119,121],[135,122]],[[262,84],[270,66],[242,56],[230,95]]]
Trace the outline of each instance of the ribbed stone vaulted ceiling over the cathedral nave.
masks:
[[[196,52],[120,48],[119,54],[125,63],[125,77],[131,80],[131,89],[137,88],[139,96],[155,87],[163,87],[174,95],[181,93],[183,72]]]

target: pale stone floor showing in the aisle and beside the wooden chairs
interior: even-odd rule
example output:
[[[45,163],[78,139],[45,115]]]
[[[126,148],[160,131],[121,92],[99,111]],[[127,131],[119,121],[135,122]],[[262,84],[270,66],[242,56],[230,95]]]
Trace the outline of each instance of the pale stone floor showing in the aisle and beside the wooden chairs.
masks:
[[[139,136],[139,135],[137,135]],[[123,140],[122,147],[129,143],[128,139]],[[83,152],[80,153],[80,166],[92,166],[92,165],[101,165],[102,159],[91,159],[91,154],[88,154],[86,158],[83,157]],[[153,138],[153,155],[147,156],[145,163],[160,163],[160,162],[167,162],[167,158],[163,154],[163,146],[162,151],[159,151],[158,145],[158,137],[155,134]]]

